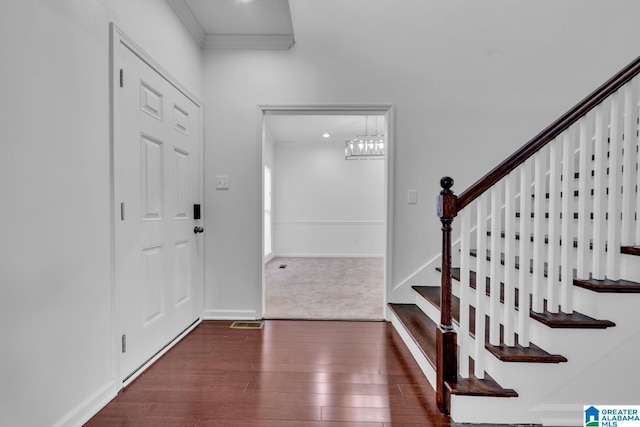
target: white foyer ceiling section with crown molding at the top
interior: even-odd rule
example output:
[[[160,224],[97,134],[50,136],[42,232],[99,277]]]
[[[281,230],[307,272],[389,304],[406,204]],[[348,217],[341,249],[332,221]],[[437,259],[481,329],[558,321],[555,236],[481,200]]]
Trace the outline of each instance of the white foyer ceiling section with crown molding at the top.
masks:
[[[167,0],[203,48],[288,49],[289,0]]]

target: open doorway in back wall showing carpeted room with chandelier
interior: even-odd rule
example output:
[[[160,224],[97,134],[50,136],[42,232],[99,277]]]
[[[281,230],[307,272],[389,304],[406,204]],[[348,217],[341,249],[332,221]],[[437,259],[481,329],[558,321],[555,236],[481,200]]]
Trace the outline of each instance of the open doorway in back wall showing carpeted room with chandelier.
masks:
[[[263,317],[383,320],[392,107],[260,108]]]

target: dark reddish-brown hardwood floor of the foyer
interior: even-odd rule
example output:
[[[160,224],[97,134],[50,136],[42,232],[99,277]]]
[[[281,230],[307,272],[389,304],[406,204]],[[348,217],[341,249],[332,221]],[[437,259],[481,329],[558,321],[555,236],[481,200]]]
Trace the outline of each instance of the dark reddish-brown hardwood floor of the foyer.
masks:
[[[391,324],[205,321],[86,425],[449,426]]]

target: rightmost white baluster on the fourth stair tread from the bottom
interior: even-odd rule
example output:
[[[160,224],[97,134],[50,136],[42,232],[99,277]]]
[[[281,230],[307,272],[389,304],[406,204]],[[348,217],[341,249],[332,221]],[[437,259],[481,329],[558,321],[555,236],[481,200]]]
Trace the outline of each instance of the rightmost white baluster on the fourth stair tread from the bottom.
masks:
[[[607,271],[609,280],[620,280],[620,220],[622,182],[622,93],[615,92],[611,98],[611,129],[609,136],[609,197],[607,198]]]

